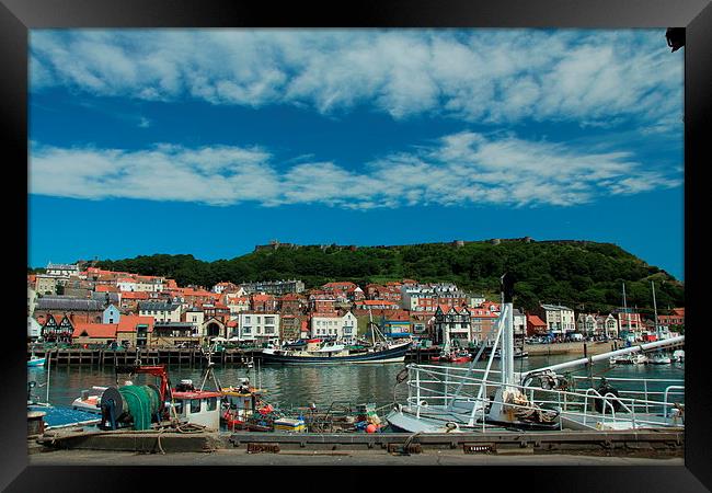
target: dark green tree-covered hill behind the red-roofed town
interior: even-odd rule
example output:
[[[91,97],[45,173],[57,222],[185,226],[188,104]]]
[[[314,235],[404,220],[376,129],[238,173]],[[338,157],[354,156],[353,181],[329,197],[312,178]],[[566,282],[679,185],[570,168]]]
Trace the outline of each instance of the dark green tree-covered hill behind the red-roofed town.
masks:
[[[496,244],[495,244],[496,243]],[[629,307],[652,309],[651,280],[661,312],[685,306],[684,285],[658,267],[611,243],[592,241],[478,241],[400,246],[296,246],[259,249],[232,260],[203,262],[193,255],[157,254],[101,261],[102,268],[162,275],[179,285],[213,286],[220,280],[302,279],[307,287],[331,280],[361,286],[413,278],[453,282],[471,293],[497,299],[498,278],[518,279],[515,305],[538,302],[571,308],[610,310],[622,305],[622,283]]]

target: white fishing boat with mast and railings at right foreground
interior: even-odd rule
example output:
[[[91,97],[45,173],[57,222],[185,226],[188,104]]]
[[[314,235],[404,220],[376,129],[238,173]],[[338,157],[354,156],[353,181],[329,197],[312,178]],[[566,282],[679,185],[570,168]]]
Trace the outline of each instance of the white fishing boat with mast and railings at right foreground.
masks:
[[[478,368],[485,345],[467,367],[410,364],[397,377],[407,398],[387,415],[392,429],[407,433],[517,431],[611,431],[685,427],[682,379],[571,377],[558,371],[588,366],[610,357],[673,348],[685,336],[625,347],[600,355],[515,372],[514,282],[502,279],[502,312],[489,336],[499,347]]]

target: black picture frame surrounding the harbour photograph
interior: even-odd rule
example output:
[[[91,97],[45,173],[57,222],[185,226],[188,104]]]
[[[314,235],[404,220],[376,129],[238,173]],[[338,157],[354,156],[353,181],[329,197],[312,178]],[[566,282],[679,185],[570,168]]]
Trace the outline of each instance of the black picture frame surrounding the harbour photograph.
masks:
[[[634,0],[499,0],[497,2],[448,1],[358,1],[331,2],[325,5],[290,2],[246,2],[244,0],[0,0],[0,122],[5,142],[5,173],[22,170],[27,163],[27,33],[46,27],[659,27],[661,43],[665,43],[667,27],[686,27],[685,50],[685,284],[687,291],[686,318],[692,329],[686,334],[686,433],[685,467],[593,467],[576,468],[517,468],[512,474],[517,484],[527,490],[542,491],[665,491],[692,492],[712,489],[712,459],[709,444],[712,386],[707,380],[705,352],[701,323],[701,277],[704,250],[701,221],[702,168],[711,162],[709,137],[703,124],[709,119],[710,88],[712,88],[712,7],[709,0],[662,1]],[[10,152],[8,152],[10,151]],[[16,221],[14,233],[5,240],[5,262],[26,264],[27,249],[16,237],[27,238],[27,202],[22,185],[26,174],[15,173],[14,186],[5,192],[7,217]],[[43,241],[51,241],[51,232]],[[24,267],[12,268],[8,276],[8,293],[12,294],[13,314],[4,329],[2,370],[2,412],[0,420],[0,488],[12,492],[30,491],[125,491],[138,489],[129,478],[146,478],[148,469],[108,467],[28,467],[26,454],[26,421],[24,399],[26,392],[25,336],[18,330],[24,323],[21,307],[21,276]],[[16,276],[16,277],[15,277]],[[16,332],[16,333],[15,333]],[[496,477],[506,481],[508,473],[501,469],[459,471],[456,488],[478,488],[480,478]],[[410,472],[409,472],[410,471]],[[225,478],[233,477],[220,471],[200,469],[193,478],[207,479],[213,484],[202,489],[220,488]],[[266,471],[255,472],[265,474]],[[140,475],[139,475],[140,474]],[[161,491],[179,488],[185,478],[171,468],[150,469],[158,478]],[[250,474],[240,472],[241,482],[231,488],[252,486]],[[274,477],[266,473],[271,482]],[[370,488],[371,473],[363,474],[351,469],[340,471],[342,479],[359,479],[358,488]],[[347,475],[344,475],[347,474]],[[418,471],[392,468],[378,473],[379,489],[386,483],[398,488],[412,488],[420,481]],[[434,472],[435,483],[445,485]],[[301,475],[301,474],[300,474]],[[390,479],[388,479],[390,477]],[[467,478],[470,478],[469,480]],[[278,479],[278,478],[277,478]],[[318,482],[311,478],[310,482]],[[136,481],[136,480],[134,480]],[[264,481],[264,479],[263,479]],[[295,484],[307,481],[295,477]],[[463,482],[464,481],[464,482]],[[345,481],[340,481],[342,488]],[[412,483],[412,484],[406,484]],[[226,483],[230,484],[230,483]],[[255,486],[257,483],[254,483]],[[450,488],[452,486],[450,485]],[[276,484],[275,484],[276,486]],[[430,486],[423,486],[430,488]],[[447,486],[446,486],[447,488]],[[480,486],[482,488],[482,486]],[[182,490],[188,490],[182,488]],[[271,488],[272,489],[272,488]]]

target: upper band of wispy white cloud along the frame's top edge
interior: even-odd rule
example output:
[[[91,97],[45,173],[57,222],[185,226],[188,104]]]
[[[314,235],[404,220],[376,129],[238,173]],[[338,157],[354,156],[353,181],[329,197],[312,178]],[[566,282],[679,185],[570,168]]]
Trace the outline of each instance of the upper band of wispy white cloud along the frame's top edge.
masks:
[[[661,30],[33,31],[31,69],[33,91],[397,119],[681,126],[682,113],[682,57]]]

